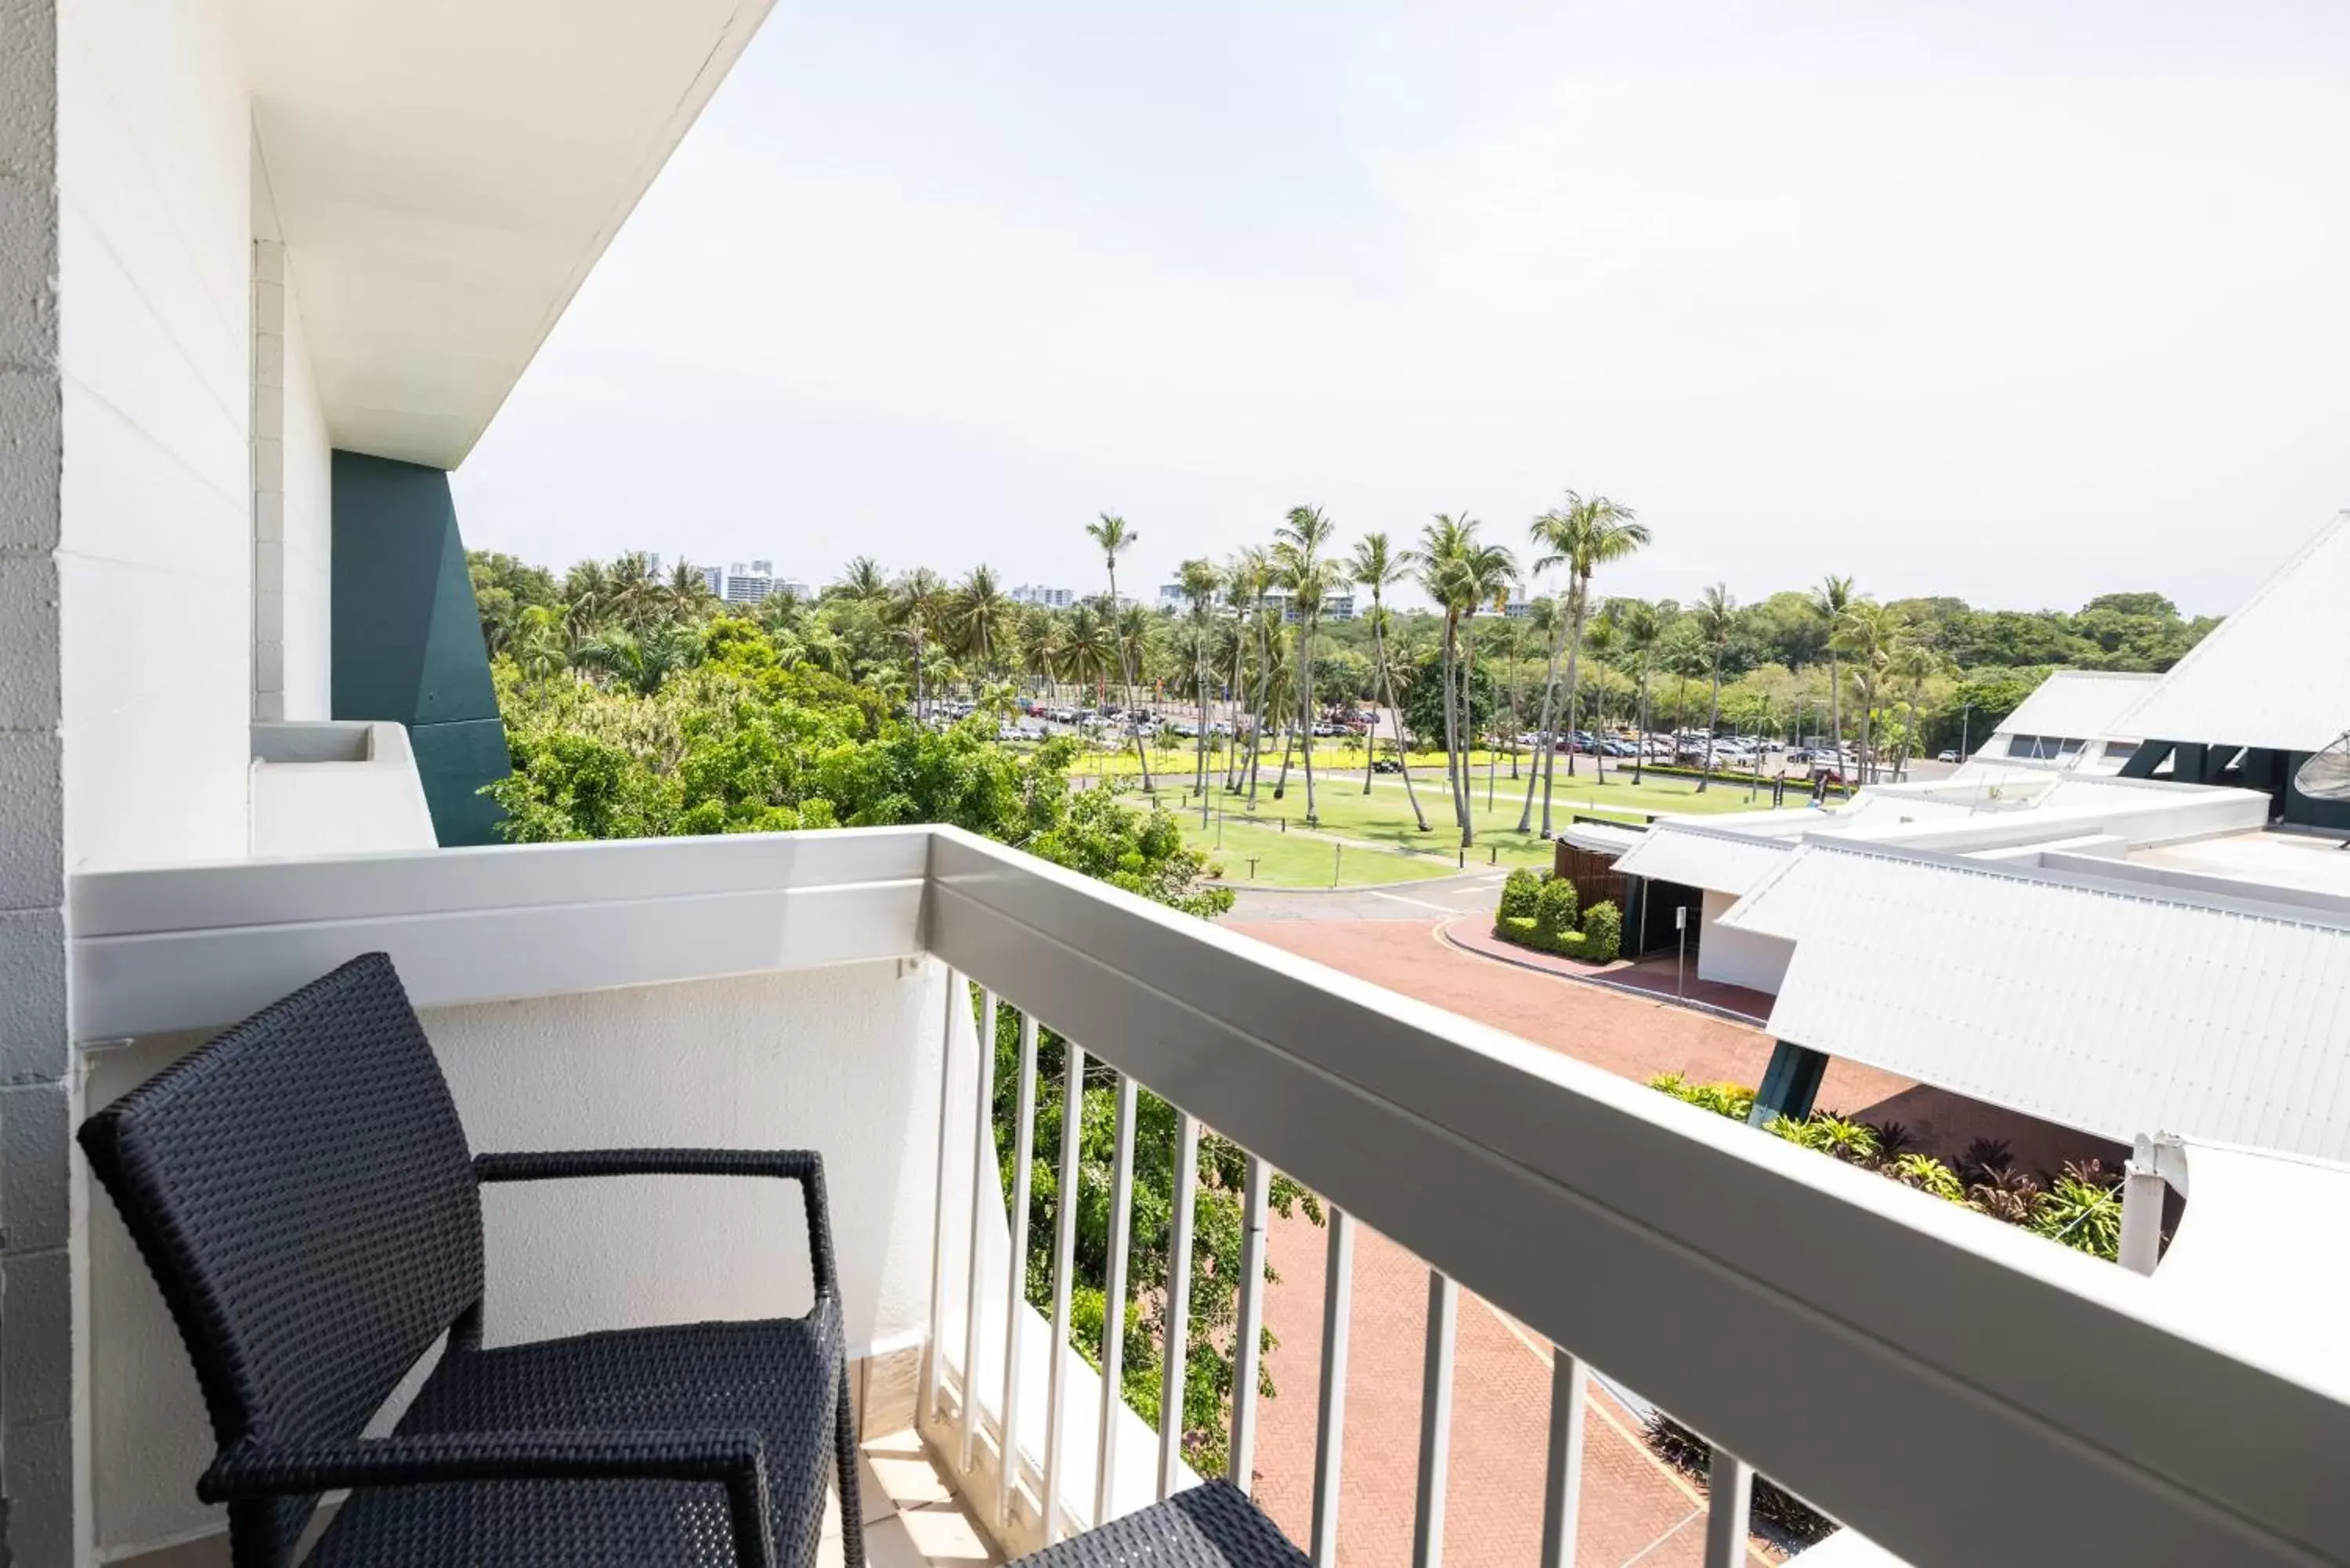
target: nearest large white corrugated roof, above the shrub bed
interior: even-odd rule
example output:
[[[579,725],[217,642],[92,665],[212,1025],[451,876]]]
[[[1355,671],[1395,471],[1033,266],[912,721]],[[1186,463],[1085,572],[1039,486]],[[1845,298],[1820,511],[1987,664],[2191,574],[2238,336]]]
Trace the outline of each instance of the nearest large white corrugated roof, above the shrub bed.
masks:
[[[1795,943],[1781,1039],[2106,1138],[2350,1154],[2350,922],[1845,844],[1727,919]]]

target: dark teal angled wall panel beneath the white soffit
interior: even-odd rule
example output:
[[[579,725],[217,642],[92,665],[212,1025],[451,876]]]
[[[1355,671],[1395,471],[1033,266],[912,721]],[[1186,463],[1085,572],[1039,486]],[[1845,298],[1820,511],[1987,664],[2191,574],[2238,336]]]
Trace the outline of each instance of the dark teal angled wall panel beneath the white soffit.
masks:
[[[407,724],[439,842],[498,842],[505,726],[439,468],[334,454],[334,717]]]

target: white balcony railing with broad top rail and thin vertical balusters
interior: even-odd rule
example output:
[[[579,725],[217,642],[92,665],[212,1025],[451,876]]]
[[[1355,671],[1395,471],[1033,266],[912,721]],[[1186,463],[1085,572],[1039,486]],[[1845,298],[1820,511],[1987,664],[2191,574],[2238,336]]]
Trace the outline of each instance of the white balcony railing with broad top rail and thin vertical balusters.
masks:
[[[2350,1406],[2263,1371],[2258,1347],[2188,1331],[2155,1279],[954,830],[118,872],[75,884],[73,931],[85,1044],[226,1023],[378,947],[423,1009],[935,959],[985,987],[989,1006],[1018,1006],[1121,1074],[1121,1175],[1135,1084],[1177,1105],[1187,1135],[1210,1126],[1250,1150],[1253,1262],[1269,1168],[1344,1215],[1330,1227],[1335,1265],[1354,1220],[1424,1258],[1429,1410],[1448,1399],[1455,1281],[1567,1352],[1556,1356],[1546,1561],[1570,1561],[1586,1366],[1920,1568],[2350,1556],[2336,1481]],[[924,1025],[949,1053],[973,1041],[966,1001],[961,985],[945,987],[945,1027],[935,1011]],[[1032,1107],[1034,1051],[1020,1063],[1018,1098]],[[1180,1486],[1173,1434],[1156,1434],[1152,1453],[1152,1434],[1100,1399],[1104,1380],[1060,1349],[1065,1335],[1015,1305],[1003,1260],[1025,1241],[1006,1234],[992,1150],[971,1143],[985,1084],[968,1070],[928,1084],[931,1432],[994,1450],[996,1497],[1041,1505],[1034,1533]],[[1032,1135],[1027,1117],[1018,1135]],[[1010,1225],[1025,1225],[1013,1199]],[[1065,1309],[1067,1229],[1055,1258]],[[1243,1324],[1260,1279],[1243,1274]],[[1347,1269],[1328,1279],[1321,1561],[1335,1561],[1344,1528]],[[1135,1284],[1177,1300],[1184,1288]],[[1253,1342],[1243,1326],[1241,1345]],[[1236,1385],[1255,1378],[1243,1368]],[[1088,1389],[1097,1420],[1079,1427]],[[1039,1408],[1041,1443],[1027,1436]],[[1243,1481],[1250,1441],[1243,1399]],[[1126,1481],[1137,1446],[1149,1474]],[[1441,1441],[1424,1446],[1422,1561],[1443,1516],[1441,1460]],[[1708,1563],[1744,1549],[1732,1500],[1751,1472],[1725,1469]]]

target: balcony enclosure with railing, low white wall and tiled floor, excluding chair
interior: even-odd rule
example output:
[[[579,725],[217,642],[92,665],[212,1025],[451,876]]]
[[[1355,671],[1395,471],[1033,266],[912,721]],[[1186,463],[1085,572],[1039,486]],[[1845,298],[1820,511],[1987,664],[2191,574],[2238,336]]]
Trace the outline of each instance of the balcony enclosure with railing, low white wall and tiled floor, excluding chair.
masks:
[[[1029,1204],[996,1180],[978,987],[982,1009],[1020,1009],[1116,1074],[1121,1173],[1137,1084],[1180,1110],[1177,1161],[1201,1128],[1248,1152],[1238,1387],[1255,1387],[1248,1326],[1269,1295],[1253,1262],[1271,1171],[1332,1206],[1321,1375],[1283,1380],[1283,1399],[1316,1403],[1311,1474],[1285,1483],[1321,1563],[1441,1556],[1459,1483],[1448,1326],[1464,1293],[1551,1363],[1539,1516],[1520,1521],[1546,1563],[1596,1535],[1582,1479],[1596,1375],[1718,1446],[1713,1502],[1650,1563],[1748,1561],[1734,1500],[1753,1472],[1920,1568],[2350,1559],[2334,1474],[2350,1408],[2331,1382],[2275,1371],[2289,1366],[2275,1347],[2190,1314],[2160,1272],[2049,1246],[954,830],[87,875],[70,931],[89,1105],[385,950],[477,1147],[820,1147],[862,1359],[867,1514],[905,1509],[886,1528],[900,1554],[1018,1556],[1194,1479],[1175,1434],[1104,1403],[1095,1368],[1055,1352],[1069,1267],[1050,1312],[1008,1267],[1027,1255]],[[1034,1105],[1034,1053],[1015,1072],[1015,1100]],[[1130,1213],[1123,1197],[1114,1215]],[[787,1204],[693,1180],[501,1194],[489,1335],[797,1309]],[[214,1521],[188,1490],[207,1453],[193,1378],[110,1211],[78,1208],[96,1556],[207,1561]],[[1170,1258],[1191,1255],[1189,1222],[1177,1206]],[[1436,1324],[1415,1368],[1410,1507],[1398,1490],[1379,1512],[1410,1530],[1351,1514],[1361,1488],[1342,1465],[1363,1441],[1344,1373],[1370,1234],[1426,1267]],[[1184,1291],[1182,1272],[1126,1281]],[[1255,1399],[1231,1415],[1243,1481],[1262,1420]]]

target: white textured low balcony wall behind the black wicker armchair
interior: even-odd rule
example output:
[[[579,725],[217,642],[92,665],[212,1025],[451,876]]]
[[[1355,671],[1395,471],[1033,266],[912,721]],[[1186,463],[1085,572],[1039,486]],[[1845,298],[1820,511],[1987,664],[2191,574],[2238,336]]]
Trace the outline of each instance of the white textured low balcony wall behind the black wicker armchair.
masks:
[[[928,1324],[942,976],[848,964],[439,1009],[425,1030],[475,1150],[820,1150],[848,1342],[862,1349]],[[195,1044],[92,1053],[92,1107]],[[952,1206],[968,1213],[971,1128],[952,1131]],[[491,1345],[808,1305],[792,1182],[517,1185],[494,1190],[486,1215]],[[103,1197],[89,1251],[99,1547],[129,1552],[219,1521],[193,1490],[212,1439],[162,1298]]]

